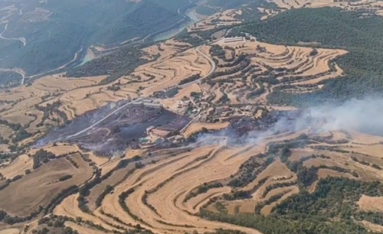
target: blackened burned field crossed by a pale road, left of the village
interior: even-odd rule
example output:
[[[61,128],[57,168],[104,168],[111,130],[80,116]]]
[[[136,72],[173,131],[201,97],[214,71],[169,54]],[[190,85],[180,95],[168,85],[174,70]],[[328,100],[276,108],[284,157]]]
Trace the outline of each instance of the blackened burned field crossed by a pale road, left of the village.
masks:
[[[78,117],[65,128],[54,130],[40,144],[55,141],[60,135],[61,142],[77,144],[98,156],[110,157],[122,154],[127,148],[139,148],[139,139],[148,136],[149,127],[176,134],[189,122],[190,118],[160,106],[117,103],[111,108],[109,104]]]

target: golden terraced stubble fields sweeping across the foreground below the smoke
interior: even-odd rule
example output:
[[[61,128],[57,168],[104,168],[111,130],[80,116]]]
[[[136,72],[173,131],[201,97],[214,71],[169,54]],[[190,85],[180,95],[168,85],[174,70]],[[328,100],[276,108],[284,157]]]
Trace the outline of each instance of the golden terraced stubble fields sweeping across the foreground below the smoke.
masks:
[[[196,127],[196,126],[194,126]],[[205,127],[212,127],[212,125]],[[220,124],[217,124],[220,128]],[[336,133],[336,132],[333,132]],[[295,138],[297,134],[274,137],[265,139],[259,145],[244,145],[237,147],[225,146],[225,144],[205,145],[192,147],[189,152],[177,154],[174,157],[158,161],[156,164],[136,170],[126,179],[118,183],[112,193],[109,193],[103,199],[101,206],[97,207],[92,213],[84,213],[77,207],[78,195],[71,195],[57,206],[54,213],[58,215],[67,215],[71,217],[81,217],[82,219],[92,220],[94,223],[102,225],[104,228],[113,231],[116,227],[110,225],[119,224],[130,228],[126,224],[140,224],[142,227],[158,233],[183,233],[185,231],[206,231],[215,228],[238,229],[248,233],[260,233],[257,230],[239,227],[226,223],[212,222],[203,220],[192,214],[198,213],[199,209],[207,204],[207,209],[217,211],[214,203],[208,204],[212,198],[220,198],[223,194],[231,193],[233,188],[228,185],[222,188],[209,189],[206,193],[198,194],[192,198],[186,197],[195,191],[198,186],[204,183],[215,181],[225,182],[234,175],[240,173],[241,164],[254,161],[262,164],[265,158],[257,158],[254,155],[265,153],[268,149],[267,144],[281,140]],[[336,135],[336,134],[333,134]],[[338,136],[335,136],[339,138]],[[376,162],[382,165],[381,156],[378,154],[357,154],[351,153],[355,148],[369,149],[376,143],[359,145],[354,139],[349,139],[345,144],[332,144],[347,148],[350,153],[338,153],[327,150],[316,150],[323,143],[313,143],[302,149],[292,151],[290,161],[300,160],[310,155],[323,155],[324,158],[305,159],[305,167],[311,166],[338,166],[359,174],[356,178],[347,172],[337,172],[332,169],[320,169],[318,179],[326,176],[343,176],[362,180],[381,180],[383,173],[371,166],[354,162],[350,159],[352,154],[358,160],[365,162]],[[378,138],[376,138],[379,140]],[[360,141],[360,139],[358,139]],[[372,152],[372,151],[371,151]],[[155,152],[154,152],[155,153]],[[297,187],[296,175],[291,172],[280,159],[276,158],[266,168],[256,168],[261,170],[258,176],[242,188],[235,191],[251,191],[251,198],[222,201],[224,207],[229,213],[234,212],[252,212],[258,204],[267,201],[275,195],[281,195],[277,201],[261,209],[261,213],[268,215],[272,208],[299,192]],[[278,184],[291,183],[289,186],[280,186]],[[312,190],[315,189],[316,181],[312,183]],[[277,185],[275,189],[267,191],[267,188]],[[122,202],[129,207],[129,212],[121,207],[121,197],[123,192],[132,191],[129,196],[122,199]],[[265,192],[267,191],[267,192]],[[100,191],[101,192],[101,191]],[[99,192],[99,193],[100,193]],[[380,209],[378,205],[381,198],[371,198],[363,196],[359,201],[359,206],[364,210]],[[220,201],[220,200],[219,200]],[[375,205],[371,205],[375,204]],[[108,214],[108,216],[106,215]],[[118,217],[113,219],[111,217]],[[75,227],[75,226],[74,226]],[[87,228],[87,227],[78,227]],[[118,228],[117,228],[118,230]],[[88,231],[91,231],[88,229]]]

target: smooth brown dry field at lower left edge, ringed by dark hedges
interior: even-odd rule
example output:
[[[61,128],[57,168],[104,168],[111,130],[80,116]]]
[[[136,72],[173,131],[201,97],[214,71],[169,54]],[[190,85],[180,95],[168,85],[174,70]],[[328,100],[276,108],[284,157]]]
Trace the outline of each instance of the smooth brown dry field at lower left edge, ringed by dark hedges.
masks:
[[[12,215],[24,216],[46,205],[55,194],[73,184],[81,184],[92,177],[93,170],[78,155],[75,168],[65,158],[53,160],[21,179],[12,182],[0,193],[0,207]],[[71,174],[73,177],[64,181],[58,179]]]

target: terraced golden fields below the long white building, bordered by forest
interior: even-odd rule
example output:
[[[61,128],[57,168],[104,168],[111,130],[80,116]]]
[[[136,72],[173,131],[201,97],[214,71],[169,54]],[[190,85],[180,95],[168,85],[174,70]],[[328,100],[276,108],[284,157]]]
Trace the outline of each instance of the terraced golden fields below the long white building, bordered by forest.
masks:
[[[326,79],[343,75],[343,70],[333,61],[335,58],[347,54],[345,50],[311,49],[304,46],[273,45],[258,41],[233,42],[226,45],[224,40],[215,44],[222,46],[229,57],[246,55],[245,62],[233,65],[222,58],[214,57],[219,61],[216,74],[210,78],[210,91],[214,93],[216,104],[222,104],[226,97],[230,104],[264,104],[267,96],[274,88],[291,84],[283,92],[308,93],[321,89]],[[277,84],[266,84],[257,81],[271,70],[281,70],[286,73],[278,76]],[[239,72],[246,71],[245,73]],[[251,71],[251,72],[250,72]],[[227,72],[232,75],[222,75]],[[245,79],[246,78],[246,79]],[[235,82],[233,82],[235,81]]]

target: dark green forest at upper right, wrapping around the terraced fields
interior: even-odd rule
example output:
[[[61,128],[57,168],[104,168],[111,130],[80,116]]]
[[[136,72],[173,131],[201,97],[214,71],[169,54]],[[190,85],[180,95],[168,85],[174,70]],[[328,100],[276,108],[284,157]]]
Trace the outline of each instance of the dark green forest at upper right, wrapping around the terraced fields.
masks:
[[[243,25],[233,33],[248,32],[260,41],[275,44],[319,42],[318,47],[347,50],[349,53],[336,61],[345,76],[323,81],[324,87],[312,93],[279,90],[269,96],[273,104],[294,106],[342,102],[383,91],[383,18],[361,17],[362,13],[338,8],[292,9],[267,21]]]

